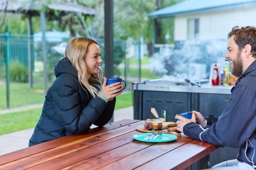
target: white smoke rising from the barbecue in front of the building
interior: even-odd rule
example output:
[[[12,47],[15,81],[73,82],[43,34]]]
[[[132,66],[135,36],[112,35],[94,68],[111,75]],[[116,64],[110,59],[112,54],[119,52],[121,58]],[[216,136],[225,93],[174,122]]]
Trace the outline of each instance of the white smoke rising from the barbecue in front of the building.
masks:
[[[227,40],[185,41],[161,47],[152,57],[152,69],[164,79],[208,79],[211,63],[224,62]]]

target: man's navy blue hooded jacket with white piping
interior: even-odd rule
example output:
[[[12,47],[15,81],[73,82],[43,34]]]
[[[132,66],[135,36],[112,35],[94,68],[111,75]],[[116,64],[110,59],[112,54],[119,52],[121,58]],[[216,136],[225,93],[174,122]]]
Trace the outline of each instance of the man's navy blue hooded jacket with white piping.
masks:
[[[222,147],[240,148],[238,161],[256,168],[256,60],[238,78],[220,117],[210,115],[206,127],[189,123],[185,135]]]

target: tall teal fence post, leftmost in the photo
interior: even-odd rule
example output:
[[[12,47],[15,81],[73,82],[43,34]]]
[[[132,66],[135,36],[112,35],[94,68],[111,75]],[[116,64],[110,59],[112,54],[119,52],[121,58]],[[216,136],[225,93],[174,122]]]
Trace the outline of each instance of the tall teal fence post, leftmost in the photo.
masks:
[[[10,61],[10,52],[9,52],[9,37],[8,26],[6,27],[6,107],[10,108],[10,82],[9,82],[9,61]]]

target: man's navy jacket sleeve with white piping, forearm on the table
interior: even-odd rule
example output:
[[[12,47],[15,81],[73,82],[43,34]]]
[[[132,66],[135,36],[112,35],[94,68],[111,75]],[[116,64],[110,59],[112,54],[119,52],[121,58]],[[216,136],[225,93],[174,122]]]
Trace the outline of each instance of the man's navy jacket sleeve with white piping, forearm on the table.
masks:
[[[240,147],[256,128],[255,89],[239,85],[233,90],[227,108],[218,122],[201,127],[196,123],[184,126],[185,135],[225,147]]]

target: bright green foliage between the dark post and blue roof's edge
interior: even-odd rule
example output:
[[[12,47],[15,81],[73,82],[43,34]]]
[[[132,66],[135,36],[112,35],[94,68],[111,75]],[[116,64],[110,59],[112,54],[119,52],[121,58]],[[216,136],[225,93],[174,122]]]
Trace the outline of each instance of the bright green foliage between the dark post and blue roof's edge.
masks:
[[[114,1],[115,37],[138,40],[143,36],[145,42],[152,41],[153,20],[149,20],[147,14],[155,9],[155,0]]]

